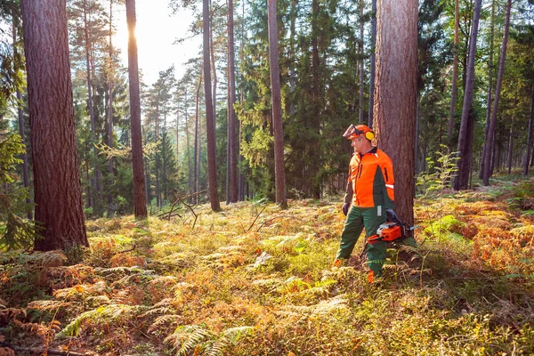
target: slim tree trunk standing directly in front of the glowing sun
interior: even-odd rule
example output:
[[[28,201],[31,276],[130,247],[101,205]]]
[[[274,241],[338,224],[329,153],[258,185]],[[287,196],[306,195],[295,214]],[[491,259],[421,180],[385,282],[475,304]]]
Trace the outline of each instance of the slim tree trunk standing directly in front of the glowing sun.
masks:
[[[135,38],[135,0],[126,0],[126,21],[128,23],[128,76],[130,81],[132,166],[134,170],[134,211],[135,217],[146,217],[147,197],[142,162],[141,101],[137,64],[137,39]]]

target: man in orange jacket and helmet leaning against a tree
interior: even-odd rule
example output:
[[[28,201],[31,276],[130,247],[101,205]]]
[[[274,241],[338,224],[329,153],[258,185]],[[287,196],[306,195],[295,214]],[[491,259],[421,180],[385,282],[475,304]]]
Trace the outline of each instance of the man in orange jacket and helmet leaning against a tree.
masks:
[[[361,231],[366,237],[376,234],[380,224],[397,221],[393,212],[393,164],[384,151],[372,145],[375,133],[367,125],[350,125],[344,138],[352,141],[354,154],[349,165],[349,180],[344,197],[343,213],[347,216],[341,233],[335,266],[349,259]],[[414,240],[415,242],[415,240]],[[412,244],[409,244],[412,245]],[[369,282],[382,275],[387,243],[376,241],[367,245]]]

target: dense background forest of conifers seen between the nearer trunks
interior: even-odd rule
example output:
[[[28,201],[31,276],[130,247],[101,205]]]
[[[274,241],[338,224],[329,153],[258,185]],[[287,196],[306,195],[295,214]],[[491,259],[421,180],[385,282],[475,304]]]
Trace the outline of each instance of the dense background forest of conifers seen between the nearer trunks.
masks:
[[[490,167],[492,172],[522,166],[526,174],[533,163],[532,4],[529,1],[513,4],[507,25],[505,2],[481,3],[473,63],[473,107],[469,121],[472,125],[467,133],[460,133],[475,2],[420,2],[415,174],[425,172],[427,162],[439,158],[445,150],[442,145],[449,152],[460,149],[458,137],[462,134],[473,142],[473,158],[469,159],[464,176],[470,177],[470,184],[472,172],[480,171],[482,177],[484,143],[489,142],[486,136],[491,109],[495,107],[492,104],[498,86],[499,61],[503,57],[501,44],[508,27],[510,35],[495,134],[491,136],[495,143],[490,148]],[[287,2],[278,6],[284,166],[290,197],[320,198],[344,191],[352,149],[340,133],[350,124],[372,125],[373,110],[369,108],[374,99],[371,64],[375,61],[372,54],[376,36],[376,29],[371,26],[372,5],[364,1],[335,1]],[[114,12],[118,6],[122,5],[114,1],[68,2],[77,156],[88,217],[128,214],[134,208],[127,69],[113,44],[117,28]],[[188,6],[195,15],[188,33],[175,34],[178,42],[202,32],[198,4],[169,2],[172,12],[180,12],[182,6]],[[227,203],[236,200],[229,194],[233,182],[228,162],[232,137],[238,137],[237,199],[275,200],[266,8],[255,2],[236,4],[232,38],[237,57],[233,73],[237,100],[229,106],[228,6],[216,3],[210,6],[209,61],[218,194],[226,197]],[[9,1],[4,1],[3,7],[4,23],[10,26],[3,28],[2,137],[5,140],[12,133],[22,134],[29,152],[21,55],[24,50],[21,36],[17,36],[20,9],[16,2]],[[182,77],[175,77],[173,66],[160,71],[152,85],[142,84],[143,162],[152,214],[173,204],[178,197],[206,190],[208,185],[205,92],[199,90],[203,58],[200,53],[189,54],[190,61],[182,65]],[[237,115],[234,120],[229,120],[230,107]],[[234,126],[229,125],[232,122]],[[238,129],[233,132],[228,129],[235,125]],[[24,186],[31,196],[32,158],[29,154],[20,158],[23,165],[17,166],[14,182],[3,182],[4,189],[17,191]],[[466,187],[463,183],[462,188]],[[204,198],[206,194],[197,196],[199,200]],[[28,202],[31,201],[29,198]],[[20,209],[17,213],[20,214]]]

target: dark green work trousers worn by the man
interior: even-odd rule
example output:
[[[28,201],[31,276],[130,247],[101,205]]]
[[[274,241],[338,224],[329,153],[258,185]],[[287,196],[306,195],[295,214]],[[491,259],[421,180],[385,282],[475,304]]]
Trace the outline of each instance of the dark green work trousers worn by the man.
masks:
[[[348,259],[356,242],[360,238],[361,231],[365,229],[366,237],[376,234],[380,224],[385,223],[385,211],[383,206],[359,207],[351,206],[349,214],[344,223],[341,233],[341,243],[337,251],[336,259]],[[407,238],[400,242],[401,245],[417,247],[416,240]],[[382,266],[386,256],[387,243],[376,241],[374,244],[368,244],[366,252],[368,255],[368,267],[375,273],[375,276],[382,275]]]

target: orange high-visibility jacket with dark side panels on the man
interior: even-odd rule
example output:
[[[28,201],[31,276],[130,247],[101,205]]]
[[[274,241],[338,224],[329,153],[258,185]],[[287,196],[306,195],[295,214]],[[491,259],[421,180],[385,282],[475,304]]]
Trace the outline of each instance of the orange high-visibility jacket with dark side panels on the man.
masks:
[[[355,153],[349,164],[345,202],[352,197],[354,206],[392,209],[394,182],[392,158],[383,150],[374,147],[364,154]]]

